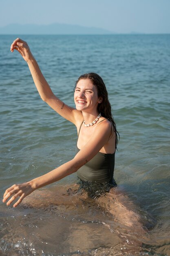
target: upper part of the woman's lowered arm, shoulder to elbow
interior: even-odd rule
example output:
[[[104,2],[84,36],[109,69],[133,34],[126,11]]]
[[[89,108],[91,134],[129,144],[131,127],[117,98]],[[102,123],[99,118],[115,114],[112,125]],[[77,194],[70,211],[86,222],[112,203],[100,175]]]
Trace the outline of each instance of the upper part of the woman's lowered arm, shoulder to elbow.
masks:
[[[90,161],[108,142],[111,128],[112,126],[109,121],[101,122],[97,125],[97,129],[95,130],[93,136],[91,136],[89,141],[73,159],[76,166],[76,171]]]

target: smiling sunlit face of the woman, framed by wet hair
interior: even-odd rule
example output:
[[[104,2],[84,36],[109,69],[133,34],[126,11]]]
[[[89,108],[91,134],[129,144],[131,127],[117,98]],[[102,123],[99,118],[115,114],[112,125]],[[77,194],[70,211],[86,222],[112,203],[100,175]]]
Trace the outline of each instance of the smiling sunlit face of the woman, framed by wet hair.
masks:
[[[90,79],[80,79],[75,88],[74,101],[77,110],[92,113],[97,111],[102,97],[98,97],[97,88]]]

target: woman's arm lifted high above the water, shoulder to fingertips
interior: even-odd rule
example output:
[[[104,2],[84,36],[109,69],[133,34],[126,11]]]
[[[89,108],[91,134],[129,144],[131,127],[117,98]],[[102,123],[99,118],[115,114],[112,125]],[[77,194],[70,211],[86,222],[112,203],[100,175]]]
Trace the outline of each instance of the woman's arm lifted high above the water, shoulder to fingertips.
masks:
[[[83,118],[82,112],[65,105],[64,102],[53,94],[49,84],[40,70],[40,67],[38,66],[37,61],[33,57],[28,44],[20,38],[17,38],[11,45],[11,52],[13,52],[14,49],[17,50],[27,62],[41,99],[49,104],[49,106],[62,117],[76,125],[77,120]]]

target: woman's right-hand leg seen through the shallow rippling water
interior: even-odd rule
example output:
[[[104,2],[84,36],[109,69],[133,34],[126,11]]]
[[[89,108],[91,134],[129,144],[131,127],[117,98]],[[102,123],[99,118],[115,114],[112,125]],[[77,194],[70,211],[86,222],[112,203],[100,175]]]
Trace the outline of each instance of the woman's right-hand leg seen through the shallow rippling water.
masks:
[[[113,216],[113,220],[105,225],[122,239],[121,252],[139,255],[143,251],[142,243],[148,238],[146,229],[141,224],[142,216],[137,213],[132,200],[119,189],[112,188],[109,193],[97,198],[96,202]]]

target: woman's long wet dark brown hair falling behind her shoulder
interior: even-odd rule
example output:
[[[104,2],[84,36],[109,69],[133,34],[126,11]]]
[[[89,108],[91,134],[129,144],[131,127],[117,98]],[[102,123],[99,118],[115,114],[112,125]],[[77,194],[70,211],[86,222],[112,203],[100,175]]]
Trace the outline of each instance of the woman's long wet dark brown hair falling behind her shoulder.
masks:
[[[99,113],[102,114],[102,117],[105,117],[106,119],[108,119],[113,125],[113,130],[115,131],[115,135],[116,135],[116,148],[117,148],[118,137],[120,139],[120,136],[119,136],[119,132],[116,130],[116,124],[111,112],[111,105],[108,100],[108,92],[106,90],[106,85],[104,84],[102,77],[96,73],[83,74],[79,76],[79,79],[75,82],[75,88],[77,86],[77,83],[81,79],[90,79],[93,85],[95,85],[97,88],[98,97],[102,97],[102,102],[98,104],[97,110],[99,111]]]

